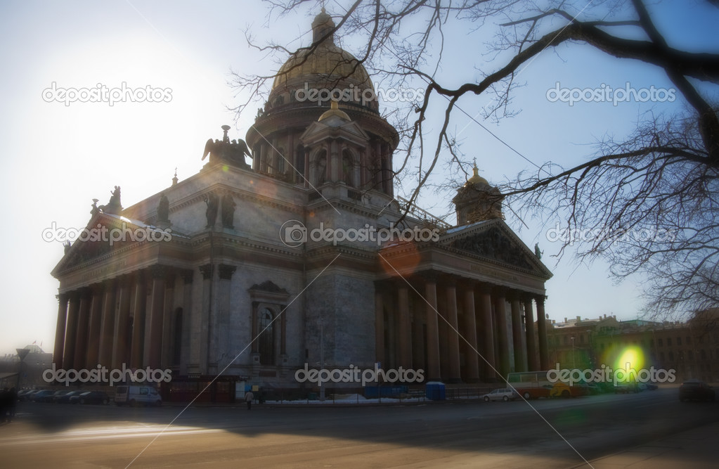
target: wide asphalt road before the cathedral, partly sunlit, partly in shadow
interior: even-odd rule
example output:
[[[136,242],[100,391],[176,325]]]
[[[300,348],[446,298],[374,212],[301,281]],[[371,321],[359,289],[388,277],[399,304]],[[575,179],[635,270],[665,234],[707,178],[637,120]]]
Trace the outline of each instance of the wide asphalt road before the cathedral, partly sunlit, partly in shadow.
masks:
[[[719,404],[680,403],[676,388],[530,404],[238,405],[179,416],[177,406],[20,404],[0,427],[0,466],[575,467],[719,420]]]

